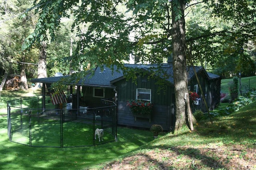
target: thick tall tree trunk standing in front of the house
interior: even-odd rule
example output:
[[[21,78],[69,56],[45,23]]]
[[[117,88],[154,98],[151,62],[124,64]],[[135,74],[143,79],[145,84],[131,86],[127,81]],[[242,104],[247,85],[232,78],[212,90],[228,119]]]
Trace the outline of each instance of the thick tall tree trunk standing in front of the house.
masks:
[[[175,3],[174,3],[175,2]],[[186,93],[188,93],[188,79],[186,71],[186,35],[185,35],[185,0],[172,1],[172,54],[173,54],[173,72],[174,72],[174,91],[176,105],[176,122],[174,133],[182,128],[186,123]],[[177,16],[178,8],[179,14]],[[187,101],[189,102],[189,101]]]

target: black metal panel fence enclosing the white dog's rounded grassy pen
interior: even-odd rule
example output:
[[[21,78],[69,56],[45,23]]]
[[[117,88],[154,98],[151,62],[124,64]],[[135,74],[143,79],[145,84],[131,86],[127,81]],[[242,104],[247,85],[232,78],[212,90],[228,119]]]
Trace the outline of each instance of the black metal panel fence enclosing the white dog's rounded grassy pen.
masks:
[[[72,109],[64,103],[54,106],[32,96],[8,101],[8,137],[12,142],[33,147],[95,146],[116,140],[116,104],[102,100],[102,107]],[[104,129],[103,141],[95,130]]]

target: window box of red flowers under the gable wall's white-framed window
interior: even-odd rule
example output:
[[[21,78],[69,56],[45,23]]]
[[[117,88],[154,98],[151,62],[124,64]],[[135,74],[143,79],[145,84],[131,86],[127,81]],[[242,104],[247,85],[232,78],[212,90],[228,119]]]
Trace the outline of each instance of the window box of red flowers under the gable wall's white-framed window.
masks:
[[[136,117],[143,117],[150,119],[153,110],[153,104],[150,101],[143,100],[130,100],[127,105],[132,111],[133,115]]]

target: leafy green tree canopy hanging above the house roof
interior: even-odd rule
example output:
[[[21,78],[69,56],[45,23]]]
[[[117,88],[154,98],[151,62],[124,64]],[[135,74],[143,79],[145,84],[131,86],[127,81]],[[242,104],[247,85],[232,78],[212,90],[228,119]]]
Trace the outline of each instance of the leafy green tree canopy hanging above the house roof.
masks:
[[[207,59],[214,63],[223,56],[222,51],[238,50],[255,38],[254,1],[182,3],[186,4],[187,18],[207,12],[208,18],[190,20],[186,27],[188,55],[197,61]],[[136,63],[162,63],[172,53],[172,17],[179,20],[182,16],[178,0],[40,0],[34,6],[38,6],[39,20],[23,49],[53,41],[61,19],[74,18],[70,29],[76,33],[77,41],[72,67],[77,69],[81,64],[85,67],[102,63],[122,67],[130,57]],[[175,16],[171,16],[171,10]]]

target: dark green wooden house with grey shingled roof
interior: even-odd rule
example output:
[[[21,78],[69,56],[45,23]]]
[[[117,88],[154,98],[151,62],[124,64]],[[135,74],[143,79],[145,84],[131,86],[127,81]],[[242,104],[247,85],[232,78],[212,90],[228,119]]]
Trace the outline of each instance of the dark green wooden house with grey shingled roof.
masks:
[[[117,104],[118,125],[149,129],[153,124],[162,125],[164,130],[172,130],[175,123],[175,95],[172,63],[166,64],[124,64],[126,67],[141,69],[145,74],[137,74],[136,82],[127,80],[122,70],[114,66],[114,70],[104,66],[94,70],[93,75],[81,78],[78,83],[76,104],[86,107],[98,107],[100,99],[105,98]],[[210,109],[214,109],[220,103],[220,76],[206,72],[202,66],[195,67],[202,86],[203,93],[199,90],[192,67],[188,67],[188,87],[197,92],[200,98],[196,104],[192,104],[192,110],[206,111],[202,102],[204,95]],[[158,72],[156,76],[148,76],[147,72]],[[167,76],[166,76],[167,75]],[[58,78],[36,78],[32,82],[52,83]],[[158,81],[163,80],[164,88]],[[166,84],[165,84],[166,83]],[[68,84],[68,83],[67,83]],[[152,115],[149,118],[134,117],[127,105],[129,100],[143,98],[154,104]]]

